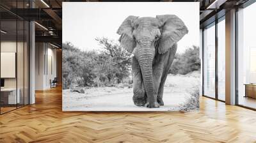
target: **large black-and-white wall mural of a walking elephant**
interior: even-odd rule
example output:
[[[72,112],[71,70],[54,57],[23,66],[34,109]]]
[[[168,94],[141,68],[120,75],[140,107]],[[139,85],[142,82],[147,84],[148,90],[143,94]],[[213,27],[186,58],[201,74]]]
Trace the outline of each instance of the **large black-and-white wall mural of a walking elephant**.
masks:
[[[63,3],[63,111],[199,108],[199,3]]]

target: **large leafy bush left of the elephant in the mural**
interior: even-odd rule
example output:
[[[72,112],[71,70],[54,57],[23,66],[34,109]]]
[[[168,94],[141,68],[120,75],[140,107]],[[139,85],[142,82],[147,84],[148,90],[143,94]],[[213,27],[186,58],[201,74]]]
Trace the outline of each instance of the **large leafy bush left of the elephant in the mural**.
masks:
[[[131,54],[108,38],[96,38],[99,51],[82,51],[63,43],[63,89],[121,83],[131,75]]]

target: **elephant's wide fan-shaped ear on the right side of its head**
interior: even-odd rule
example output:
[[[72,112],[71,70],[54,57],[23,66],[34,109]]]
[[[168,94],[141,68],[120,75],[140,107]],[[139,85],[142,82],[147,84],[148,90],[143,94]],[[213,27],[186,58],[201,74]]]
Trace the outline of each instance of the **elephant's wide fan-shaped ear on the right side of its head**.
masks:
[[[162,24],[158,52],[164,54],[188,33],[188,28],[176,15],[157,15],[156,18]]]

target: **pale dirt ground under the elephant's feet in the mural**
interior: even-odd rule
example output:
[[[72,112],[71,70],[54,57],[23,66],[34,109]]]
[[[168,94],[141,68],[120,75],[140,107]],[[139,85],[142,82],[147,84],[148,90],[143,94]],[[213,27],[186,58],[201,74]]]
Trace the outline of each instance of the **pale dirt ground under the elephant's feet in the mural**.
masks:
[[[63,111],[168,111],[179,110],[179,105],[189,98],[190,92],[199,88],[200,72],[187,75],[168,75],[164,84],[164,106],[157,109],[137,107],[132,102],[132,88],[92,87],[85,93],[63,90]]]

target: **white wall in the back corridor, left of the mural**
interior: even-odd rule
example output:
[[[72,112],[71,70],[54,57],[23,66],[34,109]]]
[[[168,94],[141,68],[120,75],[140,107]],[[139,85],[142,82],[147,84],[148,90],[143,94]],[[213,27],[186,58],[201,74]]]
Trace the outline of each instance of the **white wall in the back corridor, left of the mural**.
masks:
[[[35,55],[35,89],[49,89],[50,80],[56,77],[56,49],[49,43],[36,43]]]

